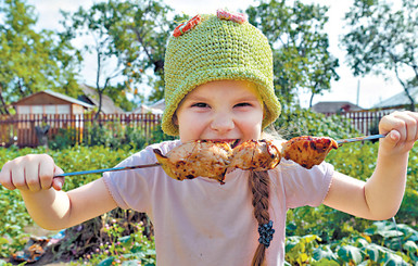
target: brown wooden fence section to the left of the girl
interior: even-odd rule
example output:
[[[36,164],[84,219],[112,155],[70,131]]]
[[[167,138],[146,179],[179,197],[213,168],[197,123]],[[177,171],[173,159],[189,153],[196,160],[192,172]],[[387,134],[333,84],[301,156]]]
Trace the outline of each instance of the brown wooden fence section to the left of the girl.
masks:
[[[107,114],[100,115],[98,119],[91,114],[27,114],[27,115],[0,115],[0,145],[15,144],[23,147],[39,145],[36,128],[48,127],[48,138],[52,139],[60,130],[71,130],[72,139],[81,143],[94,124],[104,126],[107,130],[116,127],[132,127],[150,136],[160,125],[161,115],[154,114]]]

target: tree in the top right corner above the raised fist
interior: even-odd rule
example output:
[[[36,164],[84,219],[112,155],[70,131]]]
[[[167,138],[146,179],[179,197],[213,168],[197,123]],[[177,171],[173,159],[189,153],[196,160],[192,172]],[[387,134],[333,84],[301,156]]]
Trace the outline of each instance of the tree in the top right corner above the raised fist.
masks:
[[[350,31],[342,43],[354,75],[395,74],[414,111],[409,89],[418,81],[418,1],[403,0],[395,9],[387,1],[355,0],[345,21]]]

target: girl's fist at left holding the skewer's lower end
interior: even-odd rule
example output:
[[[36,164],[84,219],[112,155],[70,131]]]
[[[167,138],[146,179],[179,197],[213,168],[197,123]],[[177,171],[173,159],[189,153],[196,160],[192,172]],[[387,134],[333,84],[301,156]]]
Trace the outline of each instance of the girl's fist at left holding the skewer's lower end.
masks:
[[[16,157],[3,165],[0,183],[10,190],[37,192],[53,187],[61,190],[64,178],[53,178],[64,172],[47,154],[30,154]]]

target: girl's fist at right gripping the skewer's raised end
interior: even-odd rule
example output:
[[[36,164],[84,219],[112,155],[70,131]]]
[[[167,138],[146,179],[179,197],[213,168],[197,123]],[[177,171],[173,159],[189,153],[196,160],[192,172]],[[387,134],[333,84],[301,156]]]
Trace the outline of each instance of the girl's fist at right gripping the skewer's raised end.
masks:
[[[418,139],[418,113],[404,111],[383,116],[380,134],[388,134],[381,147],[391,152],[408,152]]]

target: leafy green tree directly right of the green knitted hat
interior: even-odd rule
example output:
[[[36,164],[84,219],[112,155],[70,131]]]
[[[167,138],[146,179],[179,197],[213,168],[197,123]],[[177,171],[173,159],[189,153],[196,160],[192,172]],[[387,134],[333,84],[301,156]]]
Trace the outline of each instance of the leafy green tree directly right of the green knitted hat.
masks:
[[[339,79],[338,60],[329,52],[328,8],[284,0],[261,1],[246,9],[249,21],[258,27],[273,47],[276,93],[291,103],[300,89],[315,94],[330,90],[330,81]]]

